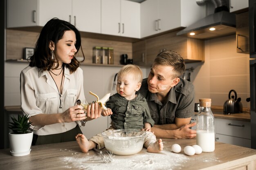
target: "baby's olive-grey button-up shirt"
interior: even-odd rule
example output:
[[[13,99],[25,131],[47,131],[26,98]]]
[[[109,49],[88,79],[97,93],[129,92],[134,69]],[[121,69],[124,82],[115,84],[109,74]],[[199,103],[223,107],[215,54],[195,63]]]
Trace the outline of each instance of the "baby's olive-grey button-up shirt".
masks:
[[[142,129],[144,123],[153,126],[155,122],[150,116],[146,99],[136,93],[135,99],[127,100],[118,93],[110,96],[106,106],[113,112],[111,115],[112,126],[116,129]]]

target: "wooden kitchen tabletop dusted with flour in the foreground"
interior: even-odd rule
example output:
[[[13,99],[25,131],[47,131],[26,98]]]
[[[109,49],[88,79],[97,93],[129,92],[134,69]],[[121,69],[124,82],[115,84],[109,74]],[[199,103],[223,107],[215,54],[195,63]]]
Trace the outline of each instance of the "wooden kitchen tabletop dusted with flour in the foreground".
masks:
[[[161,153],[148,153],[146,148],[130,156],[115,155],[112,163],[102,163],[98,153],[80,151],[76,141],[32,146],[31,153],[13,157],[9,149],[0,150],[1,170],[255,170],[256,150],[216,142],[214,152],[187,156],[184,147],[195,139],[163,139]],[[171,152],[180,144],[182,152]],[[103,149],[105,150],[105,149]]]

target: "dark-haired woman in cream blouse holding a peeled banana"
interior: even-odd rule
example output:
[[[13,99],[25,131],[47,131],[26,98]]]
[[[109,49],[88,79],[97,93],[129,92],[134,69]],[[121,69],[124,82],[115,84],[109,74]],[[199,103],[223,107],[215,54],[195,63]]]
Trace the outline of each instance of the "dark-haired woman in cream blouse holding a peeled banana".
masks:
[[[87,110],[76,105],[77,99],[87,103],[83,71],[75,57],[80,46],[79,31],[53,18],[42,29],[29,66],[20,73],[21,108],[32,122],[32,145],[74,141],[81,133],[79,126],[101,115],[94,102]]]

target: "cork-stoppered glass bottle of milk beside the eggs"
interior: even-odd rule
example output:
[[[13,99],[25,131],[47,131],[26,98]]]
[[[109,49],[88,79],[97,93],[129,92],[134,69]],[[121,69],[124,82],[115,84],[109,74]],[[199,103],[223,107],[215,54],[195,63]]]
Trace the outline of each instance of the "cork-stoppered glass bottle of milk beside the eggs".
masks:
[[[211,99],[199,99],[200,110],[196,117],[196,144],[203,152],[215,149],[214,116],[211,112]]]

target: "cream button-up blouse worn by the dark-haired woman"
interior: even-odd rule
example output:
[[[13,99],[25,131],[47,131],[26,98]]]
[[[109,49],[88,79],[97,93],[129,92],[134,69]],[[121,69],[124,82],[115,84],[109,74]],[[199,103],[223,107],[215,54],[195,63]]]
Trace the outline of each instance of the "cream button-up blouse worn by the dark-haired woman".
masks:
[[[68,68],[64,69],[64,83],[61,95],[49,71],[39,71],[36,66],[27,66],[20,73],[20,101],[23,114],[34,116],[40,113],[63,113],[68,108],[76,105],[76,100],[87,104],[83,91],[83,70],[79,67],[70,74]],[[79,126],[85,126],[82,121],[71,123],[57,123],[45,126],[31,126],[36,135],[52,135],[66,132]]]

